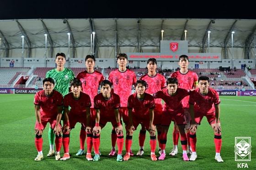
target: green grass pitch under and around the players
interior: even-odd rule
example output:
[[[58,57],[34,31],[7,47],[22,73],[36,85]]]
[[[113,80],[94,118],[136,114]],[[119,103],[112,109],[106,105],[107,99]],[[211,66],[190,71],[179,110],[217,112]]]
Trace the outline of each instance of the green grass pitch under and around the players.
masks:
[[[101,133],[101,160],[92,162],[84,156],[76,156],[79,149],[80,125],[77,124],[71,131],[70,154],[67,161],[56,161],[48,158],[48,127],[43,134],[44,160],[34,161],[37,155],[34,146],[35,113],[33,95],[30,94],[1,94],[0,95],[0,169],[235,169],[234,145],[236,136],[250,136],[252,153],[251,162],[246,162],[250,169],[256,169],[256,97],[227,97],[221,96],[221,123],[223,147],[221,151],[224,163],[214,160],[215,149],[213,132],[206,118],[197,131],[197,155],[194,162],[184,162],[181,159],[181,144],[179,154],[173,158],[169,156],[172,148],[172,129],[168,134],[166,144],[166,158],[164,161],[150,160],[149,134],[145,142],[145,154],[142,157],[134,156],[129,161],[117,162],[116,157],[108,157],[111,149],[111,126],[102,129]],[[133,153],[139,149],[138,132],[133,136]],[[125,146],[124,146],[125,149]],[[63,149],[62,149],[63,155]],[[123,154],[125,151],[123,151]],[[240,162],[245,163],[245,162]]]

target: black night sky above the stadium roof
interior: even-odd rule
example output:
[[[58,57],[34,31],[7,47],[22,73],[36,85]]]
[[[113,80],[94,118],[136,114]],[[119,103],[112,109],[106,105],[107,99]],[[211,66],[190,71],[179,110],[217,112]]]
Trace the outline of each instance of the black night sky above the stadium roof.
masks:
[[[253,1],[226,0],[4,0],[0,20],[64,18],[256,19]],[[230,5],[232,4],[232,5]]]

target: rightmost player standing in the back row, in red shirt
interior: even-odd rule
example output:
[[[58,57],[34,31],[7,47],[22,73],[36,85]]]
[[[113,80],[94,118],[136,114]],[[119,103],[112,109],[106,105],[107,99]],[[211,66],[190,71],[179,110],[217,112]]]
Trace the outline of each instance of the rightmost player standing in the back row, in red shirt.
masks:
[[[191,70],[188,70],[188,65],[189,65],[189,61],[188,61],[188,56],[187,55],[181,55],[179,57],[179,62],[178,65],[181,67],[181,69],[179,71],[173,72],[171,74],[171,77],[175,77],[179,84],[178,87],[179,88],[184,88],[186,90],[192,90],[195,88],[198,88],[198,82],[197,82],[197,73],[192,72]],[[182,100],[182,106],[184,108],[184,114],[186,116],[186,130],[187,130],[187,140],[188,140],[188,153],[191,154],[191,149],[190,149],[190,143],[189,143],[189,122],[190,122],[190,115],[188,112],[188,108],[189,108],[189,104],[188,104],[188,100],[189,100],[189,96],[187,96],[186,98],[184,98]],[[178,141],[179,141],[179,128],[174,125],[174,129],[173,129],[173,149],[171,150],[171,153],[169,155],[175,156],[178,153]]]

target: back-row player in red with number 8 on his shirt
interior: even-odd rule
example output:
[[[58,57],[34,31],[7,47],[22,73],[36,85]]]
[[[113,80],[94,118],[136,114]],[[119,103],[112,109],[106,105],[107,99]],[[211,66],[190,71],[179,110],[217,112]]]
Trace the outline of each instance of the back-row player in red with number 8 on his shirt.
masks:
[[[129,124],[127,109],[128,97],[132,94],[132,86],[135,85],[137,81],[135,73],[126,68],[127,58],[128,57],[125,53],[118,54],[117,64],[119,67],[118,69],[110,72],[108,77],[109,81],[113,84],[114,93],[116,93],[120,97],[121,108],[119,108],[119,112],[121,114],[121,117],[123,118],[123,122],[125,125]],[[112,150],[109,153],[109,156],[114,156],[116,153],[116,140],[117,134],[113,128],[111,133]],[[133,155],[132,150],[130,151],[131,155]]]

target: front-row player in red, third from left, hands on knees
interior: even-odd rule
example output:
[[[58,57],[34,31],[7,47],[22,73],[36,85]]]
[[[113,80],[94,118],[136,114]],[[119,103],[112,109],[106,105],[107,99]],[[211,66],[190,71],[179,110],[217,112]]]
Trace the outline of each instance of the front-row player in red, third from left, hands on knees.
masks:
[[[117,161],[123,161],[123,126],[120,122],[120,115],[118,109],[120,108],[120,97],[116,93],[111,93],[112,83],[108,80],[101,82],[101,92],[94,97],[94,108],[96,109],[96,121],[93,128],[93,148],[95,156],[93,161],[100,159],[100,132],[101,129],[111,122],[117,133]]]

